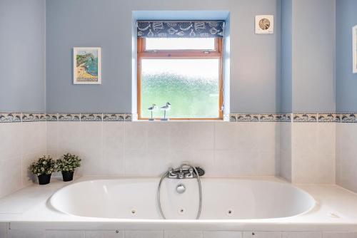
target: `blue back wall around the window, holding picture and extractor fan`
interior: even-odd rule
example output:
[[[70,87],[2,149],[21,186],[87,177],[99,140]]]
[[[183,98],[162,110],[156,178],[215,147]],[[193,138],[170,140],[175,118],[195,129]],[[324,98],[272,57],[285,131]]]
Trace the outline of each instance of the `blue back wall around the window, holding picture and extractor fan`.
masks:
[[[47,0],[46,108],[49,112],[131,112],[132,11],[196,10],[231,13],[231,112],[277,112],[279,21],[272,35],[256,35],[253,26],[258,14],[278,19],[279,2]],[[102,85],[72,84],[74,46],[101,46]]]

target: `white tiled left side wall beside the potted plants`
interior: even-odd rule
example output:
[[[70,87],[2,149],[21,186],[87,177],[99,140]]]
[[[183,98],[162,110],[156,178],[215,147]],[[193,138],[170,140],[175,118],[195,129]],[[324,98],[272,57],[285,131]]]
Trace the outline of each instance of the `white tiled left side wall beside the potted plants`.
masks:
[[[46,153],[46,122],[0,123],[0,197],[32,183],[27,171]]]

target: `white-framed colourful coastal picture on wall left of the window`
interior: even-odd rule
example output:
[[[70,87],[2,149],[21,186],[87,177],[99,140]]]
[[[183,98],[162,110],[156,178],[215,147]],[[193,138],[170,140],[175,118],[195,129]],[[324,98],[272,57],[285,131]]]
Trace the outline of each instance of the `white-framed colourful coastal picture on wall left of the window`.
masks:
[[[73,83],[101,84],[101,48],[73,48]]]

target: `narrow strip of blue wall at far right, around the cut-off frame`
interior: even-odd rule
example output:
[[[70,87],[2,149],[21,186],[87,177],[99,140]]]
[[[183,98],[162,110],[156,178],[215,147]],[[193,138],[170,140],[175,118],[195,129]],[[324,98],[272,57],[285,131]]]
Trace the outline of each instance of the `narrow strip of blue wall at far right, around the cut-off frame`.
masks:
[[[352,73],[352,27],[357,1],[336,1],[336,110],[357,112],[357,73]]]

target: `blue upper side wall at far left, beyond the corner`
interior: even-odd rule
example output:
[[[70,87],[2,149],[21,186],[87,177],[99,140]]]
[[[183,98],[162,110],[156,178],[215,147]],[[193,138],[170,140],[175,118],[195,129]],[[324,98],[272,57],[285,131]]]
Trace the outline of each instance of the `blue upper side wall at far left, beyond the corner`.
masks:
[[[45,110],[45,0],[0,1],[0,111]]]

